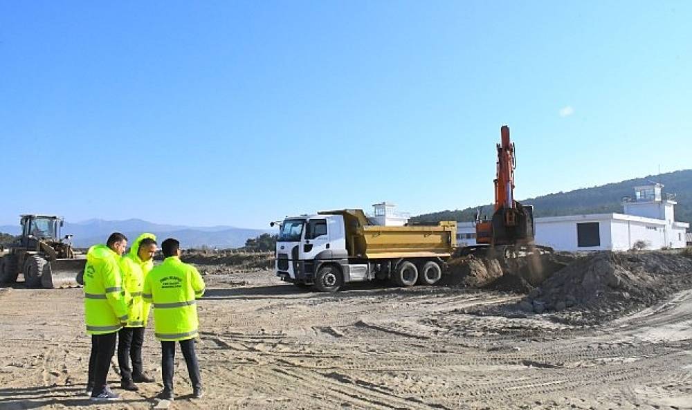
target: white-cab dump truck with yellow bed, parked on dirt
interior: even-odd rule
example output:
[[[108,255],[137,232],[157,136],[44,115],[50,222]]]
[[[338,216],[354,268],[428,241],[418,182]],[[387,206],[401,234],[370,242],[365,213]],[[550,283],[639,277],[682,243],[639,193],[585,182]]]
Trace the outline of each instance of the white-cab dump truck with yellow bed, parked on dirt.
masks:
[[[434,285],[456,246],[456,222],[376,225],[362,209],[286,217],[279,225],[277,277],[322,292],[374,279]]]

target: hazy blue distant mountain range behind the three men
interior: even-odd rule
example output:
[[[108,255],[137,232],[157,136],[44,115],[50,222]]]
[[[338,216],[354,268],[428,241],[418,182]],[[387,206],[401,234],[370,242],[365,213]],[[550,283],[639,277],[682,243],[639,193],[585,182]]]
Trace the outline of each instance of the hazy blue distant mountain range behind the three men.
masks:
[[[17,225],[0,225],[0,232],[19,235],[19,221]],[[62,234],[72,234],[72,243],[77,248],[88,248],[95,243],[104,243],[112,232],[121,232],[130,239],[134,239],[143,232],[156,234],[159,242],[166,238],[176,238],[185,248],[201,248],[203,245],[212,248],[240,248],[245,245],[248,238],[254,238],[272,232],[270,230],[245,229],[233,226],[189,227],[184,225],[163,225],[142,221],[141,219],[127,219],[126,221],[103,221],[90,219],[79,223],[65,222]]]

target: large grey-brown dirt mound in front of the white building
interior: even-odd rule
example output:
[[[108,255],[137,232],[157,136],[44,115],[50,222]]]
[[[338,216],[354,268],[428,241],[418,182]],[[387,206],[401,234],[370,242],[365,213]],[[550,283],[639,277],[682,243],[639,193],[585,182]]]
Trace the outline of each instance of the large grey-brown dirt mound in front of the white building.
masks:
[[[692,287],[692,260],[670,252],[599,252],[556,272],[525,301],[538,310],[571,306],[618,313]],[[603,318],[601,318],[603,319]]]

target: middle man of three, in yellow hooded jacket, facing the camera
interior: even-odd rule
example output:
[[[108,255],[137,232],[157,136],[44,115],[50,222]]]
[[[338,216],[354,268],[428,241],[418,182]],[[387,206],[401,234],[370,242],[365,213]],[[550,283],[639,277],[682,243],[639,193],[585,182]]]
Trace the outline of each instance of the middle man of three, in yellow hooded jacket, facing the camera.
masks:
[[[129,252],[120,259],[122,287],[129,299],[129,319],[125,327],[118,331],[118,367],[122,389],[137,391],[135,382],[154,382],[145,375],[142,366],[142,345],[144,328],[149,317],[149,302],[142,299],[144,280],[154,268],[156,236],[141,234],[132,243]],[[129,361],[132,360],[130,368]]]

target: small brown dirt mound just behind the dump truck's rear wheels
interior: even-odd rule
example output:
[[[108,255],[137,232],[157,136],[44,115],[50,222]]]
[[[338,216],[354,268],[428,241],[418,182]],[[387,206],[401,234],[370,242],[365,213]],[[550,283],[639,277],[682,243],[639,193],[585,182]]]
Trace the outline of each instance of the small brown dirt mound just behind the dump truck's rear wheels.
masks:
[[[488,286],[503,274],[496,259],[481,259],[473,255],[452,259],[447,272],[441,281],[442,285],[473,288]]]

